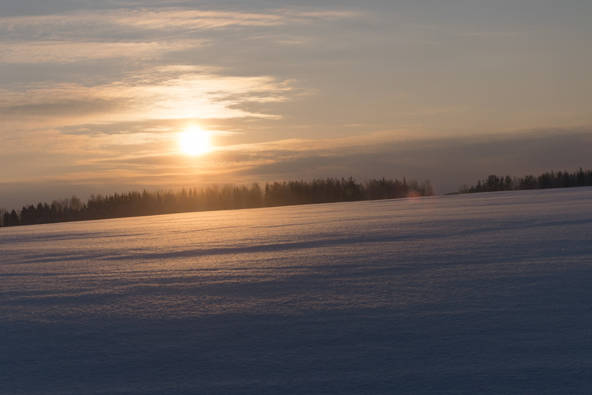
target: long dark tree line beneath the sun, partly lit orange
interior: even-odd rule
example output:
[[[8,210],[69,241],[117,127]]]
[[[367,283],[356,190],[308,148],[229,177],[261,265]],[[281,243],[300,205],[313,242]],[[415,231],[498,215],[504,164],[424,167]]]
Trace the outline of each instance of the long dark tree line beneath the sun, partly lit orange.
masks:
[[[429,181],[372,179],[363,183],[326,178],[313,181],[224,185],[181,191],[130,191],[113,195],[91,195],[86,202],[76,195],[51,204],[24,205],[20,211],[0,209],[0,226],[19,226],[83,221],[192,211],[235,210],[279,205],[336,203],[434,195]]]

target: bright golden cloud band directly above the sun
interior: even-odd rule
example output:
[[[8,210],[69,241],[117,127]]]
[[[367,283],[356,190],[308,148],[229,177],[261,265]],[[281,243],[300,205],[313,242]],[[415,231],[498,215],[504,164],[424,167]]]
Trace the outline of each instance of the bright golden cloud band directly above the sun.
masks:
[[[296,81],[221,75],[218,68],[157,66],[120,81],[85,86],[52,82],[0,89],[0,131],[83,124],[200,118],[279,118],[259,104],[301,93]]]

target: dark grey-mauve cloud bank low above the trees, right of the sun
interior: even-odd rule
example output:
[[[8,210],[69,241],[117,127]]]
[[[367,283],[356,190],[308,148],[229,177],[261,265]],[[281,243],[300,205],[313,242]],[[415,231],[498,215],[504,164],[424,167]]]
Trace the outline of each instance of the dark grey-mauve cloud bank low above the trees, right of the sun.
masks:
[[[253,145],[236,155],[234,182],[349,176],[429,178],[440,193],[489,174],[522,176],[586,167],[592,127],[521,130],[506,134],[401,140],[396,131],[336,140],[289,140]],[[284,149],[278,149],[284,147]],[[249,163],[250,162],[250,163]],[[229,166],[232,168],[232,166]]]

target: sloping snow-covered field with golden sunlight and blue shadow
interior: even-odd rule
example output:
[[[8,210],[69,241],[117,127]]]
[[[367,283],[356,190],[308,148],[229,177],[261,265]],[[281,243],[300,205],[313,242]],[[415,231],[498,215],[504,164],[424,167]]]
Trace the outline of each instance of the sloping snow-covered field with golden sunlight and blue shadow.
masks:
[[[0,229],[1,394],[583,394],[592,188]]]

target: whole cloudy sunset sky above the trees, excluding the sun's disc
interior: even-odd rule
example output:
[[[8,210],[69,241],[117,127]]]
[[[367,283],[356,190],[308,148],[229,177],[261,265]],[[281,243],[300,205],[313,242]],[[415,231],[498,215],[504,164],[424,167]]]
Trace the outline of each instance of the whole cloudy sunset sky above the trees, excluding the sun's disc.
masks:
[[[592,167],[589,0],[0,4],[0,207]],[[205,131],[211,149],[182,150]]]

